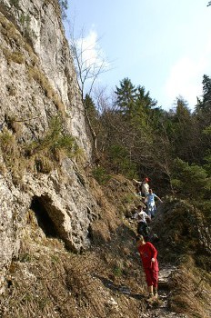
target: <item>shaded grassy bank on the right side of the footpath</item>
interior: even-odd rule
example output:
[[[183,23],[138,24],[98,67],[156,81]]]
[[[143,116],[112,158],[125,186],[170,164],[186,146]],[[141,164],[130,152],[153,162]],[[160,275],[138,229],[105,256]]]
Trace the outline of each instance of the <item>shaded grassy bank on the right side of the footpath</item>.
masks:
[[[189,317],[211,314],[211,233],[208,218],[185,200],[168,197],[153,223],[162,266],[176,268],[169,281],[169,307]]]

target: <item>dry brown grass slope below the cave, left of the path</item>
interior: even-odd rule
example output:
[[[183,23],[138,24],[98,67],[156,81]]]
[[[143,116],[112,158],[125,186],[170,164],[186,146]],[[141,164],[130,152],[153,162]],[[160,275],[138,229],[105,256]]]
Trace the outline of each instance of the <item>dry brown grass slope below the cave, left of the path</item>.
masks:
[[[130,274],[124,273],[129,255],[124,261],[121,253],[118,256],[117,236],[112,247],[106,244],[104,249],[76,255],[66,252],[60,241],[45,238],[33,211],[26,220],[19,259],[11,263],[7,277],[2,317],[119,318],[125,313],[136,318],[145,309],[144,302],[119,292],[122,285],[132,285],[140,294],[144,290],[136,263]],[[114,264],[122,266],[123,272],[112,280]]]

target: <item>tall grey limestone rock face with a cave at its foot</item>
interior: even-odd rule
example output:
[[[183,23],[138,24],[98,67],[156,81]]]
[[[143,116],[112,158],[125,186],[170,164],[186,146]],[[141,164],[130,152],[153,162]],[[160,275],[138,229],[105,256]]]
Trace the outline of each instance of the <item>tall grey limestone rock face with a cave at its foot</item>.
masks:
[[[33,142],[42,144],[49,134],[51,119],[58,114],[65,134],[75,137],[83,153],[83,164],[60,154],[57,167],[54,164],[53,168],[40,171],[37,162],[43,163],[41,154],[46,153],[45,147],[39,148],[40,158],[30,151],[27,154],[25,147]],[[1,292],[9,264],[18,255],[30,208],[37,215],[42,214],[44,227],[50,223],[69,249],[80,251],[88,246],[96,204],[83,170],[91,157],[85,127],[83,104],[57,1],[1,0]],[[49,154],[45,154],[45,164],[47,158],[49,165]]]

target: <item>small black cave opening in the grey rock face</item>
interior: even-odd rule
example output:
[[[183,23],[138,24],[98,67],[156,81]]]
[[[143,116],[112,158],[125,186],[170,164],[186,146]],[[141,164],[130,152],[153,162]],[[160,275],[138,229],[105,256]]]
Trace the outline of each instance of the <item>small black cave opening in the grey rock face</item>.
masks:
[[[58,234],[55,229],[55,224],[45,208],[45,198],[42,196],[35,196],[32,200],[30,209],[35,212],[37,223],[45,233],[45,236],[57,238]]]

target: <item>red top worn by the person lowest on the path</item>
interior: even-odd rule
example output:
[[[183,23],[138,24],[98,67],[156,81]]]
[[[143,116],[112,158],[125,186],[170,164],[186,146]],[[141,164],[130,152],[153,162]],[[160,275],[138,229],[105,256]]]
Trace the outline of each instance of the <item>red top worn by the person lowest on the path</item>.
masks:
[[[156,259],[156,247],[152,243],[146,242],[143,245],[139,245],[138,252],[140,253],[144,268],[153,268],[155,271],[159,270]],[[152,262],[152,258],[155,258],[155,263]]]

